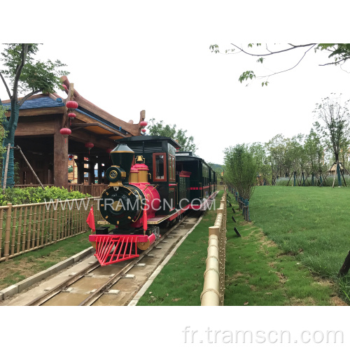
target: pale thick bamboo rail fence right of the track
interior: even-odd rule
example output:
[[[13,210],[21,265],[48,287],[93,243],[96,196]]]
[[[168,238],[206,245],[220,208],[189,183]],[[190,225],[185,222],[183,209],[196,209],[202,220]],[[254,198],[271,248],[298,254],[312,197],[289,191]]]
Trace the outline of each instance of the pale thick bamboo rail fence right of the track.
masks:
[[[202,306],[223,306],[225,295],[226,258],[226,191],[216,209],[216,221],[209,228],[207,266],[204,272],[204,286],[200,295]]]

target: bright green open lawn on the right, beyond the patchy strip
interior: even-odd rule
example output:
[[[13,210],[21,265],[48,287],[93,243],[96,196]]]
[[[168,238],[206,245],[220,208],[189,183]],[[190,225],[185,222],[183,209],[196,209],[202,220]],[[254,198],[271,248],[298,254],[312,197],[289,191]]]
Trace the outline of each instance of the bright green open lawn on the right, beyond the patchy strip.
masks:
[[[350,249],[350,188],[260,186],[250,201],[251,218],[284,254],[342,290],[350,278],[337,273]]]

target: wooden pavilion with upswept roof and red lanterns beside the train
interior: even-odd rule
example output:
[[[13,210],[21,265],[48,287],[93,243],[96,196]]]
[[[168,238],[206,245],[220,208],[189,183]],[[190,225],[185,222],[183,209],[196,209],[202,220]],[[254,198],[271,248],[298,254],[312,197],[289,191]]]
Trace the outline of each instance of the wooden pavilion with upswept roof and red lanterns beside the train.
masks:
[[[137,124],[132,120],[125,122],[84,99],[65,76],[62,82],[66,86],[66,93],[62,94],[67,94],[66,98],[55,93],[37,94],[22,104],[15,146],[22,148],[43,184],[69,186],[68,155],[74,156],[77,167],[74,182],[83,183],[84,172],[88,172],[88,183],[95,183],[94,168],[98,165],[98,183],[104,183],[102,174],[111,165],[109,152],[116,147],[115,140],[140,135],[145,112],[141,111]],[[69,100],[78,103],[75,111],[66,108]],[[9,106],[9,101],[3,101],[3,105],[6,104]],[[68,118],[69,112],[76,118]],[[63,127],[71,130],[69,137],[60,134]],[[93,147],[87,148],[91,144]],[[38,183],[18,151],[15,151],[15,162],[20,165],[20,184]]]

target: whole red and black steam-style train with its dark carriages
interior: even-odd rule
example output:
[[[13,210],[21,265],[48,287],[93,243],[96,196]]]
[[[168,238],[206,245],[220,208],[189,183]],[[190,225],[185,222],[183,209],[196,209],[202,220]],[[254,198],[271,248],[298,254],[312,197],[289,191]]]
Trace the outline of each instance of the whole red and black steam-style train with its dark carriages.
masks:
[[[111,151],[109,187],[99,211],[109,226],[89,236],[100,265],[137,258],[188,210],[204,210],[216,193],[216,172],[174,139],[137,136]],[[112,230],[110,225],[115,226]]]

